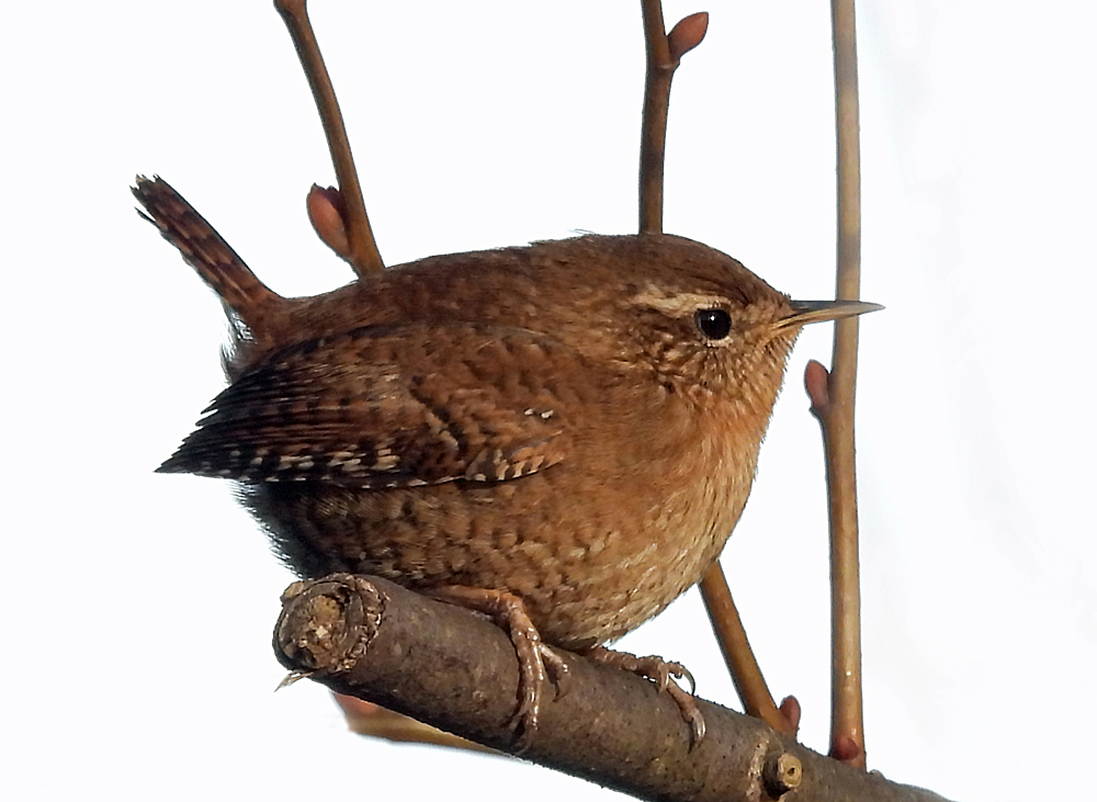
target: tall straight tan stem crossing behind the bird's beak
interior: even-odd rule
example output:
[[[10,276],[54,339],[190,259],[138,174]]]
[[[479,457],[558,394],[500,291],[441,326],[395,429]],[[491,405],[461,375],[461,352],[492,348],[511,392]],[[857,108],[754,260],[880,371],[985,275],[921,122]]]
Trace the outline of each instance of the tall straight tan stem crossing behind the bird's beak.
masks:
[[[832,0],[838,143],[837,296],[860,293],[860,145],[853,0]],[[856,317],[835,323],[829,403],[821,416],[830,510],[832,723],[830,754],[864,766],[861,698],[860,571],[853,461],[857,374]]]

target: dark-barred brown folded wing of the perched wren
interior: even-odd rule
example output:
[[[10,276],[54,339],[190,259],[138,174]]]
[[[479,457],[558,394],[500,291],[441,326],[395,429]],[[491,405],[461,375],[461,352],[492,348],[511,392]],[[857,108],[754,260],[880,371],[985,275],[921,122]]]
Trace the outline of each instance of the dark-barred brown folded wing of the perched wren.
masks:
[[[523,476],[567,455],[577,359],[545,335],[468,323],[309,340],[245,371],[159,470],[353,487]]]

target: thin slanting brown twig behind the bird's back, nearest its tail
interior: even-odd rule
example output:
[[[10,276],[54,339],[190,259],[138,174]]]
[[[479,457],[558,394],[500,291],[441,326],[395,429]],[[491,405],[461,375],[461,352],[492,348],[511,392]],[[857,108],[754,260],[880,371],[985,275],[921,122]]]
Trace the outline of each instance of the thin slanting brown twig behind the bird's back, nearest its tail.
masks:
[[[380,272],[384,270],[385,263],[381,259],[381,251],[377,250],[377,242],[370,226],[370,217],[365,213],[365,201],[362,200],[362,187],[358,180],[350,139],[347,138],[347,128],[339,111],[335,89],[331,87],[331,78],[328,76],[327,67],[324,66],[324,57],[316,43],[313,25],[308,21],[305,0],[275,0],[274,7],[285,21],[297,56],[301,58],[301,66],[308,79],[308,87],[313,90],[316,109],[324,123],[324,136],[328,142],[331,163],[336,169],[348,242],[346,252],[338,249],[337,252],[350,262],[360,276]],[[325,240],[327,241],[326,237]]]

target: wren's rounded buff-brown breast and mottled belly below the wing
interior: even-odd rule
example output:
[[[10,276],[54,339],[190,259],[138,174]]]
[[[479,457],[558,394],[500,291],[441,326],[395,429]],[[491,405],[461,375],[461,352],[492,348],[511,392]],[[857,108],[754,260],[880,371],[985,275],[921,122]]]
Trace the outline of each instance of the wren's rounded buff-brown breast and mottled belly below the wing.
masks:
[[[647,410],[646,420],[636,411],[577,427],[566,460],[519,478],[387,489],[260,483],[247,499],[299,574],[507,590],[547,642],[603,643],[701,578],[754,474],[753,455],[744,460],[722,428],[690,421],[686,409]]]

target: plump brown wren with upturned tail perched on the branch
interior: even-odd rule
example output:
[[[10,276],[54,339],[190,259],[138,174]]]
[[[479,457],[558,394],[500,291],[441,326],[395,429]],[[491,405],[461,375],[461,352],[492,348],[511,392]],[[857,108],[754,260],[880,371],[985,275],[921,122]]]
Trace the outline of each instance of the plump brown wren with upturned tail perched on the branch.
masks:
[[[167,183],[134,192],[236,324],[229,386],[159,470],[240,482],[301,576],[374,574],[501,618],[528,731],[541,660],[558,667],[545,644],[613,641],[716,560],[801,327],[879,308],[790,301],[661,234],[284,298]]]

